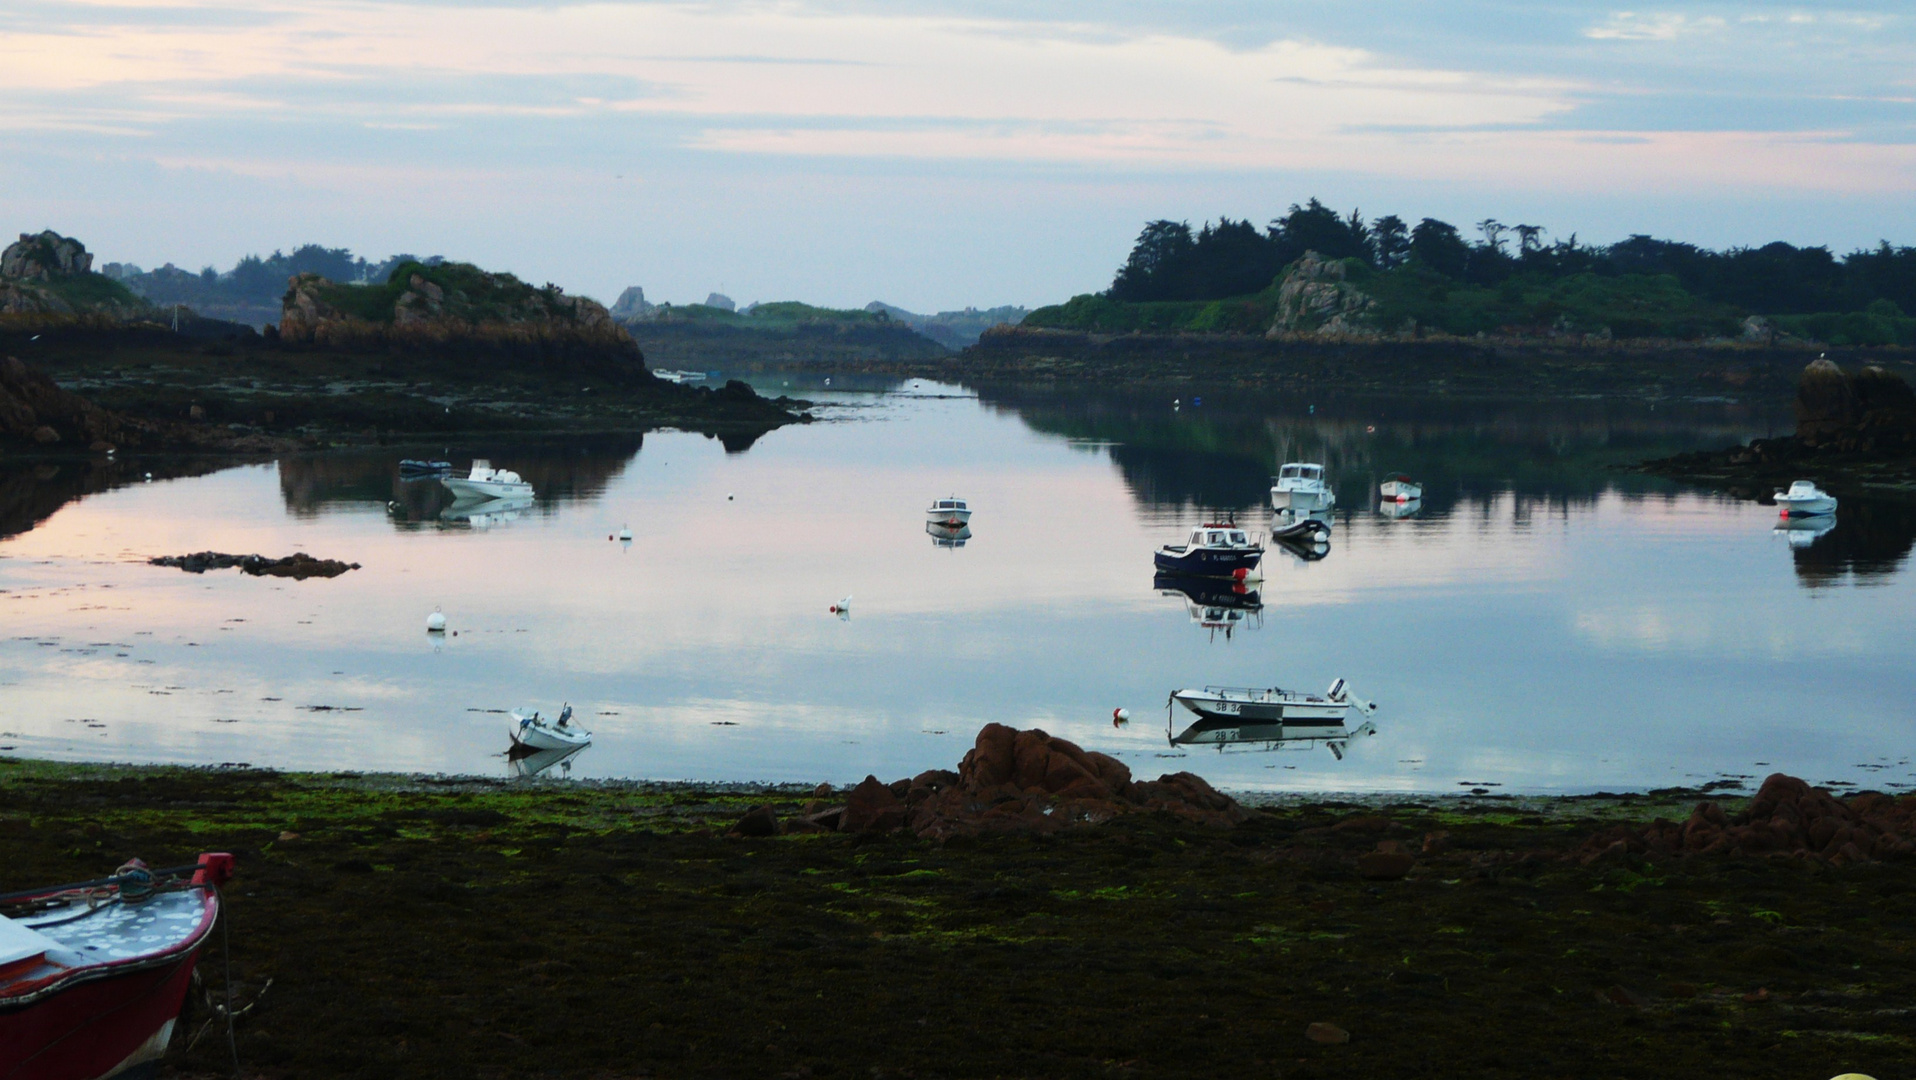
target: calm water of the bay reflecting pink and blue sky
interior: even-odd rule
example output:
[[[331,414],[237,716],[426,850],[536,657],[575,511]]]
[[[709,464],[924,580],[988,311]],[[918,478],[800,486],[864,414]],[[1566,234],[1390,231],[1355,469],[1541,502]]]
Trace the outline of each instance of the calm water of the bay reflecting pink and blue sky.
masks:
[[[843,379],[818,396],[826,423],[751,446],[456,446],[538,490],[481,519],[399,483],[397,452],[125,486],[0,477],[0,745],[504,774],[496,710],[571,701],[596,731],[571,776],[889,779],[952,766],[1002,720],[1240,789],[1916,783],[1916,513],[1845,504],[1791,544],[1770,507],[1609,467],[1788,429],[1780,414],[1217,393],[1173,410]],[[1155,588],[1152,550],[1188,525],[1268,527],[1282,458],[1332,469],[1328,555],[1274,550],[1261,611],[1207,619]],[[1378,511],[1395,469],[1427,484],[1414,517]],[[924,527],[948,492],[975,507],[962,548]],[[607,540],[621,525],[628,546]],[[144,565],[209,548],[364,569]],[[435,607],[456,636],[423,632]],[[1335,676],[1380,703],[1341,760],[1167,745],[1175,687]]]

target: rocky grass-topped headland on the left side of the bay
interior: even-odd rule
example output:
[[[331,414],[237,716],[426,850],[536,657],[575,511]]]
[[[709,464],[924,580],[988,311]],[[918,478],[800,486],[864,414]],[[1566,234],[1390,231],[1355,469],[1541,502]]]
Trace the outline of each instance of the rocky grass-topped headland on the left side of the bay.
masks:
[[[92,419],[63,421],[84,410],[38,387],[29,408],[46,417],[23,429],[27,442],[17,408],[0,433],[31,452],[648,427],[749,442],[805,419],[805,402],[766,400],[745,383],[715,391],[657,379],[602,304],[462,262],[402,262],[383,283],[299,274],[280,322],[259,333],[148,304],[94,274],[73,237],[23,236],[0,257],[0,356],[96,408]],[[98,431],[109,421],[117,437]]]

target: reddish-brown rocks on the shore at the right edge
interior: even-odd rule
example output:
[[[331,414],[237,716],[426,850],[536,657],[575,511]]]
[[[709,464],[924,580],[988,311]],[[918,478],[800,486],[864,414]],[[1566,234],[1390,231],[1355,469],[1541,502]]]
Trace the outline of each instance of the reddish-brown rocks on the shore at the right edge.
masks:
[[[1837,799],[1793,776],[1772,774],[1734,816],[1699,802],[1680,825],[1663,818],[1646,827],[1617,825],[1577,850],[1585,864],[1621,854],[1778,856],[1830,866],[1908,858],[1916,854],[1916,795],[1866,791]]]

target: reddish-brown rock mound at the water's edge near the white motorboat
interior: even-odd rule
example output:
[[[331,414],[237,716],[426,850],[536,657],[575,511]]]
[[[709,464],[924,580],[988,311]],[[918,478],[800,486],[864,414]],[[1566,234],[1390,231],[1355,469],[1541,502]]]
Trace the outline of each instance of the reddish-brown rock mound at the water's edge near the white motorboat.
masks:
[[[883,783],[864,777],[841,804],[818,791],[801,816],[780,821],[757,806],[734,825],[740,835],[803,831],[891,833],[925,839],[983,833],[1056,833],[1096,825],[1123,814],[1163,812],[1203,825],[1230,827],[1249,818],[1234,799],[1203,777],[1176,772],[1132,779],[1125,762],[1084,751],[1042,730],[987,724],[958,762],[958,772],[927,770]]]

